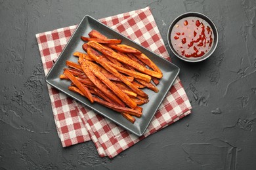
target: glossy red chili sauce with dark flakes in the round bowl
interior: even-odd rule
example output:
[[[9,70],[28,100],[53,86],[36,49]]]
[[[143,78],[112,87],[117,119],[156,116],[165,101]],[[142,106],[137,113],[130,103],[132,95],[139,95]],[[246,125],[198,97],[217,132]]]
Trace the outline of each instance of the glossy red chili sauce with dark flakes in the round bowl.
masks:
[[[173,48],[186,58],[200,58],[211,50],[213,29],[202,18],[186,17],[174,25],[171,31]]]

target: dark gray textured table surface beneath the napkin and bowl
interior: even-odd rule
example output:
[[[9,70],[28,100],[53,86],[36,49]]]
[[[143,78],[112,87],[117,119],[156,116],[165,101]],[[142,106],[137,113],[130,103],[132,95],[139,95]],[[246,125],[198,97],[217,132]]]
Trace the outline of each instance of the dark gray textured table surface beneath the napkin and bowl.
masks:
[[[110,160],[95,145],[62,148],[36,33],[150,7],[192,114]],[[0,169],[256,169],[255,0],[0,0]],[[167,45],[171,21],[202,12],[219,29],[211,58],[186,63]]]

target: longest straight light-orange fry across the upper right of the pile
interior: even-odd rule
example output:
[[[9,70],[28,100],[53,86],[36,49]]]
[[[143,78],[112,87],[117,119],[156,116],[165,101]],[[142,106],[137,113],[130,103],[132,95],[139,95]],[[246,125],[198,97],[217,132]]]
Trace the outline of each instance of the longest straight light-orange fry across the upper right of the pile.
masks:
[[[134,67],[135,69],[139,70],[142,73],[145,73],[150,76],[155,76],[156,78],[161,78],[163,76],[161,73],[158,73],[156,71],[152,71],[150,69],[147,69],[146,67],[143,67],[139,63],[133,61],[132,59],[123,58],[120,54],[118,54],[117,52],[114,52],[114,50],[112,50],[111,48],[102,46],[102,44],[99,44],[98,42],[89,41],[87,44],[89,46],[95,48],[96,50],[102,52],[102,54],[104,54],[106,56],[110,56],[112,58],[116,58],[121,63],[126,63],[127,65]]]

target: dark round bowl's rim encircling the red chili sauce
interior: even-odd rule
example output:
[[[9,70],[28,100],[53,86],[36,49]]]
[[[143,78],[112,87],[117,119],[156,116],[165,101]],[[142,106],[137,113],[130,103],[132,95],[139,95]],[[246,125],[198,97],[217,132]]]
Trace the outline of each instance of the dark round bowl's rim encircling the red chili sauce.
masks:
[[[205,20],[205,18],[206,18],[207,20],[205,20],[205,22],[207,22],[208,24],[211,25],[211,27],[213,29],[214,36],[216,38],[215,42],[213,42],[213,46],[211,48],[211,51],[209,53],[207,53],[207,55],[203,56],[202,58],[196,58],[196,59],[184,58],[180,54],[178,54],[176,52],[176,50],[173,49],[173,46],[171,44],[170,36],[171,36],[171,31],[173,30],[173,26],[177,22],[179,22],[179,20],[181,20],[182,18],[186,18],[186,17],[190,17],[190,16],[196,16],[198,18],[202,18],[203,20]],[[215,50],[216,50],[216,48],[218,46],[218,42],[219,42],[219,33],[218,33],[218,29],[217,29],[216,25],[214,24],[213,20],[211,20],[211,18],[209,18],[205,14],[202,14],[200,12],[194,12],[194,11],[192,11],[192,12],[185,12],[185,13],[180,14],[179,16],[177,16],[173,20],[173,22],[171,22],[171,24],[169,25],[169,29],[168,29],[168,32],[167,32],[167,41],[168,41],[168,44],[169,44],[169,48],[171,48],[171,51],[173,52],[173,54],[175,54],[175,56],[177,56],[177,58],[182,59],[184,61],[191,62],[191,63],[196,63],[196,62],[203,61],[203,60],[209,58],[213,54],[213,52],[215,52]]]

